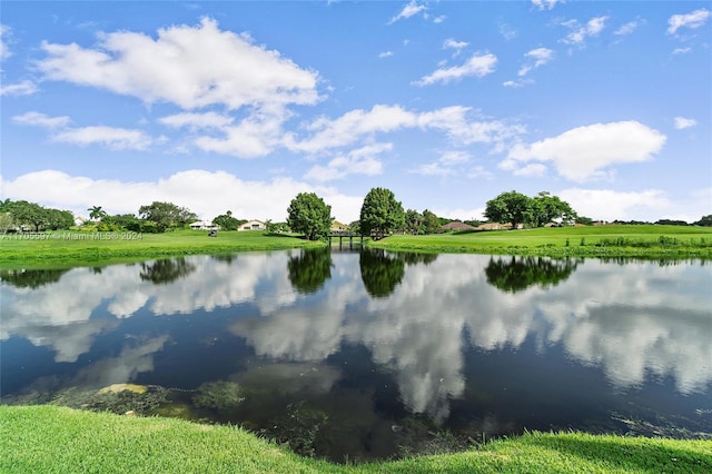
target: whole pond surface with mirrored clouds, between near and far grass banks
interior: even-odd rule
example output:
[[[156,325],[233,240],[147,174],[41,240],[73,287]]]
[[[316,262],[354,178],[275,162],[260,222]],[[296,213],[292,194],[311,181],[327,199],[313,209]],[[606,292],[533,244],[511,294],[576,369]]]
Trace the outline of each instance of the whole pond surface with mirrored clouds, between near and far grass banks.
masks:
[[[2,403],[239,423],[337,462],[712,435],[702,261],[295,250],[0,278]],[[119,383],[148,392],[96,394]]]

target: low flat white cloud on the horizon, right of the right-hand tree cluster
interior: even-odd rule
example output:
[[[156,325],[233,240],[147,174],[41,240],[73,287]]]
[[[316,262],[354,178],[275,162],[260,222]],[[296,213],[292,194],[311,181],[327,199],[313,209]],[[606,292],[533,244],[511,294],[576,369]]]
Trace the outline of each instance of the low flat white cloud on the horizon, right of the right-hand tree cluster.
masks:
[[[606,221],[640,219],[642,215],[651,214],[662,218],[666,209],[672,207],[665,192],[660,189],[616,191],[571,188],[558,192],[558,197],[576,209],[578,215]]]

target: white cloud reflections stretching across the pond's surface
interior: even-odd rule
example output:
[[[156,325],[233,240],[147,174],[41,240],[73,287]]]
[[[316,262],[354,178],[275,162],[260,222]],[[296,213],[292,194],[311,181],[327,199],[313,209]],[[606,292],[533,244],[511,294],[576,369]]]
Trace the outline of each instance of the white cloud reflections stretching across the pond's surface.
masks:
[[[73,362],[98,334],[116,327],[116,318],[141,308],[174,315],[250,302],[255,316],[229,329],[257,355],[318,363],[344,342],[363,344],[394,374],[406,406],[436,419],[464,395],[463,353],[469,345],[517,348],[527,337],[543,349],[560,344],[581,363],[602,367],[620,388],[654,375],[672,377],[689,394],[712,381],[709,267],[590,259],[556,286],[512,294],[486,283],[490,257],[441,255],[427,266],[406,266],[392,295],[372,299],[358,256],[334,254],[333,260],[332,279],[314,295],[291,288],[286,253],[239,255],[231,263],[191,258],[195,271],[162,285],[142,282],[138,266],[111,266],[99,275],[73,269],[34,290],[2,284],[0,338],[27,337],[51,347],[57,362]],[[91,318],[100,306],[115,318]],[[164,343],[151,347],[159,350]],[[132,363],[113,361],[116,368],[102,372],[112,381],[131,377],[131,367],[141,371],[137,361],[147,364],[147,355],[127,349],[119,358]]]

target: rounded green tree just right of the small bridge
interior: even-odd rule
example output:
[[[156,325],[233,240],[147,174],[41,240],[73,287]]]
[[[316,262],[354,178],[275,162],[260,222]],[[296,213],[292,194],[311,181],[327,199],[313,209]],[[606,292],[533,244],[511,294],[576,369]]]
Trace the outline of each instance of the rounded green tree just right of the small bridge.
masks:
[[[360,231],[375,235],[376,238],[405,226],[403,205],[396,200],[390,189],[372,188],[360,208]]]

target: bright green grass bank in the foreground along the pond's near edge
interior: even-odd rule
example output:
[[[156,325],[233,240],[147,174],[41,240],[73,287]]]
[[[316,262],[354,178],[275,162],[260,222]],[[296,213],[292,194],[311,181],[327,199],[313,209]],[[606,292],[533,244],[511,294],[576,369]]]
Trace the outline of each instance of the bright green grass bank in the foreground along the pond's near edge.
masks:
[[[0,406],[3,473],[710,473],[712,441],[541,434],[362,465],[299,457],[231,426]]]

